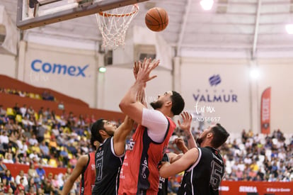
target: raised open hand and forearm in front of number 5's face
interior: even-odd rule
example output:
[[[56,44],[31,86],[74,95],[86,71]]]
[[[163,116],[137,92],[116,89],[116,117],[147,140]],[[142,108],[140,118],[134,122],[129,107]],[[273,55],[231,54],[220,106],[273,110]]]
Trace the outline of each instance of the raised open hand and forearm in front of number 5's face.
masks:
[[[183,123],[180,123],[178,120],[178,125],[180,129],[184,130],[186,138],[188,139],[188,147],[193,148],[197,147],[197,144],[195,143],[195,138],[193,138],[193,133],[191,132],[190,125],[193,121],[193,117],[188,112],[181,113],[181,117],[183,118]]]

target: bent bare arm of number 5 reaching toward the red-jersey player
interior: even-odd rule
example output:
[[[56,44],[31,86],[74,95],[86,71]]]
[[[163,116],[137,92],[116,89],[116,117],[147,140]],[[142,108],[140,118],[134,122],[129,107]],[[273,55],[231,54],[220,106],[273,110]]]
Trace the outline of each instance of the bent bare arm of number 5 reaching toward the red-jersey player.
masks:
[[[163,178],[171,177],[175,174],[185,171],[196,162],[198,158],[198,149],[193,148],[188,150],[180,159],[176,160],[172,164],[169,162],[163,163],[161,169],[159,170],[159,174]]]

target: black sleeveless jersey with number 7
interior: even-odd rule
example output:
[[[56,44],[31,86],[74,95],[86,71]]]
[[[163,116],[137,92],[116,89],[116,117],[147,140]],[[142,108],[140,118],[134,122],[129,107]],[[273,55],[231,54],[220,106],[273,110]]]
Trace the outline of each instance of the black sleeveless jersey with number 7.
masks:
[[[106,139],[96,151],[96,181],[92,194],[117,194],[124,154],[116,156],[113,137]]]

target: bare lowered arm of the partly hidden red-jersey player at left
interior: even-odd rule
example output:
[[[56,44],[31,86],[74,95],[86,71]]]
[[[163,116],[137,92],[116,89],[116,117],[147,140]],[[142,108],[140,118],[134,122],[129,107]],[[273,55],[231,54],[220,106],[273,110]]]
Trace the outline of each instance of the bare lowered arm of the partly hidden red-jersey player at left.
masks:
[[[84,167],[86,167],[87,163],[88,163],[88,155],[82,155],[81,157],[79,157],[79,160],[77,160],[76,162],[76,166],[74,167],[69,178],[66,180],[64,184],[61,195],[69,194],[69,191],[71,190],[74,182],[79,177]]]

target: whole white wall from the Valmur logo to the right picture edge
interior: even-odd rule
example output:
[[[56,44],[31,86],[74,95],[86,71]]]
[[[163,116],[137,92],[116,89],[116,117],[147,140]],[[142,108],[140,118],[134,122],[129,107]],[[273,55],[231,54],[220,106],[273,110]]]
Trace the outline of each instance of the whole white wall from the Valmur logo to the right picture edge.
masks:
[[[293,118],[292,63],[293,59],[260,59],[254,65],[260,75],[252,79],[250,60],[183,57],[180,62],[180,89],[185,96],[186,109],[196,116],[198,102],[197,111],[202,111],[200,109],[205,106],[202,116],[207,119],[220,117],[217,118],[219,123],[233,134],[241,133],[243,128],[260,133],[260,98],[263,91],[271,87],[270,130],[280,128],[290,135],[289,121]],[[237,101],[233,101],[231,96]]]

